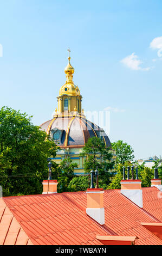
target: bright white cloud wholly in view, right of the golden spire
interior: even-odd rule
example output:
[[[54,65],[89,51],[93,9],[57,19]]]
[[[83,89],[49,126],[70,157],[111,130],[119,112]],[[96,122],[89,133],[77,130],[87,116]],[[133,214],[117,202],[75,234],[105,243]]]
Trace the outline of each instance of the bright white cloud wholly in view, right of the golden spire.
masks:
[[[148,71],[150,68],[141,68],[142,61],[139,59],[137,55],[135,55],[135,52],[133,52],[131,55],[125,57],[121,60],[121,62],[126,65],[129,69],[132,70],[144,70]]]

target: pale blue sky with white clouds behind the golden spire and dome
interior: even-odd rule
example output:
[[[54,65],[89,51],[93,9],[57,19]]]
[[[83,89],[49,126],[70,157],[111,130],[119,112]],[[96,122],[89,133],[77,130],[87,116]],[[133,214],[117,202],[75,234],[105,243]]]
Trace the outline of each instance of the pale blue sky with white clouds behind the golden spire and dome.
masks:
[[[67,48],[85,111],[111,110],[111,141],[162,155],[162,2],[1,1],[0,107],[51,118]],[[154,40],[154,41],[153,41]]]

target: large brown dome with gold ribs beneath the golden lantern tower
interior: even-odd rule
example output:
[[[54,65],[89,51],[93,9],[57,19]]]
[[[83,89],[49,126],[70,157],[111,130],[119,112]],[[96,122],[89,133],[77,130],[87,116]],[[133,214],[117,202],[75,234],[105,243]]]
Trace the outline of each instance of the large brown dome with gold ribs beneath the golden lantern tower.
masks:
[[[107,148],[111,147],[111,142],[103,129],[79,116],[57,117],[48,120],[40,127],[54,139],[59,139],[60,147],[84,147],[88,139],[94,136],[101,137]]]

